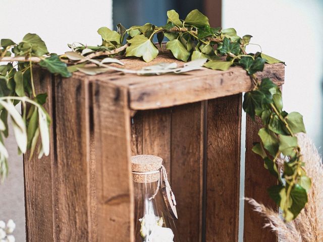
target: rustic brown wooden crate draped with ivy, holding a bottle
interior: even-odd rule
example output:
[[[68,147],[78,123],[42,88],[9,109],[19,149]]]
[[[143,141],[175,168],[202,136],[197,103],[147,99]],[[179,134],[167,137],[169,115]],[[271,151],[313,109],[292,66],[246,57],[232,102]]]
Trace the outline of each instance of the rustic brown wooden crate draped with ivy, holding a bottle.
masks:
[[[181,62],[167,52],[146,64]],[[258,76],[284,83],[284,65]],[[24,157],[28,241],[133,241],[130,157],[164,158],[178,201],[181,241],[238,241],[242,92],[252,89],[240,67],[185,75],[76,73],[62,79],[38,70],[47,92],[51,152]],[[261,123],[247,117],[245,196],[275,206],[266,188],[276,181],[251,152]],[[275,241],[245,207],[244,240]]]

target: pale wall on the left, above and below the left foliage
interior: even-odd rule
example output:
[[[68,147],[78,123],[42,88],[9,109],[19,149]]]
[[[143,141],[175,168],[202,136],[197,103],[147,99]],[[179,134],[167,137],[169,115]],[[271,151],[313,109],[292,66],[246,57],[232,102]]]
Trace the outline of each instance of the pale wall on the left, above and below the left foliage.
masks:
[[[112,27],[112,0],[1,0],[0,39],[19,42],[26,33],[38,34],[49,52],[64,53],[67,43],[100,44],[96,30]],[[12,133],[12,132],[11,132]],[[9,177],[0,185],[0,220],[13,218],[16,241],[25,241],[22,157],[13,136],[9,150]]]

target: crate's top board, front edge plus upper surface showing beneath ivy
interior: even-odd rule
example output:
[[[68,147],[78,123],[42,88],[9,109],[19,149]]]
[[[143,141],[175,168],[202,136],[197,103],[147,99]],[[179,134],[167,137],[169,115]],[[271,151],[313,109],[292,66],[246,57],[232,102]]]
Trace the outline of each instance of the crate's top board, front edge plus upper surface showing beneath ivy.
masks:
[[[122,59],[125,68],[139,70],[160,62],[184,63],[174,59],[169,51],[160,53],[153,61],[143,62],[138,58]],[[284,83],[285,66],[282,63],[265,65],[258,77],[270,77],[278,85]],[[84,77],[84,74],[74,75]],[[171,107],[185,103],[198,102],[217,97],[229,96],[252,89],[250,77],[241,67],[232,67],[228,71],[203,70],[185,73],[185,75],[137,76],[107,72],[89,80],[113,83],[129,89],[129,106],[134,110]]]

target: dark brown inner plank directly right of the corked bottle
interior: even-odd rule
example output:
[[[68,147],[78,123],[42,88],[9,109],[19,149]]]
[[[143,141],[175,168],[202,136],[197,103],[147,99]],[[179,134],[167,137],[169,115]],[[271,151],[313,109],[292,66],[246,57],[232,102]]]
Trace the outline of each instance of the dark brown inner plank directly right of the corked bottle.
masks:
[[[201,102],[172,108],[172,188],[181,241],[202,241],[203,111]]]

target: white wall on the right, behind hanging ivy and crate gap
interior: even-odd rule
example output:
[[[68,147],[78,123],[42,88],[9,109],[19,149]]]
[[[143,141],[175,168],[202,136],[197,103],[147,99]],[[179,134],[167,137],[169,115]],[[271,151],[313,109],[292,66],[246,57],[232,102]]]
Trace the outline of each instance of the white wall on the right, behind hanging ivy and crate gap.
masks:
[[[264,53],[285,61],[284,108],[303,114],[307,133],[317,147],[323,145],[322,23],[321,0],[223,0],[224,28],[234,27],[240,36],[251,34],[252,43],[260,44]],[[250,46],[249,51],[259,51],[259,47]],[[243,197],[243,187],[241,192]],[[243,205],[242,201],[240,215],[243,215]],[[242,241],[242,231],[241,224],[239,241]]]

